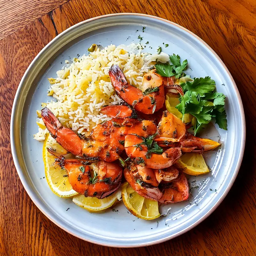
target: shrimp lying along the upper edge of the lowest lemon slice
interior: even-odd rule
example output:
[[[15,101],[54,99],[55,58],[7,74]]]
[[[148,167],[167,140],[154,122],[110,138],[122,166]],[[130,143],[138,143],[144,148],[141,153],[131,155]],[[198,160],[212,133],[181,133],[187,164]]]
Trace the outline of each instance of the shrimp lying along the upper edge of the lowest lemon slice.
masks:
[[[136,173],[138,173],[138,169],[136,166],[132,164],[124,169],[125,179],[140,196],[155,201],[159,200],[163,196],[159,188],[154,187],[151,184],[148,184],[139,179],[136,179]],[[135,173],[135,175],[133,174],[133,172]]]

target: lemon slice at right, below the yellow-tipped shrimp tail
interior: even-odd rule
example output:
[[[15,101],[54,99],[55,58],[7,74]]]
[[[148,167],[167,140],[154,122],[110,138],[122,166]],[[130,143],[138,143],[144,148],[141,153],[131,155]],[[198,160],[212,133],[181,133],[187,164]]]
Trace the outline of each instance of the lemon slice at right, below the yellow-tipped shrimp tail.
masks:
[[[175,164],[182,169],[183,172],[190,175],[201,175],[210,172],[202,154],[185,153]]]

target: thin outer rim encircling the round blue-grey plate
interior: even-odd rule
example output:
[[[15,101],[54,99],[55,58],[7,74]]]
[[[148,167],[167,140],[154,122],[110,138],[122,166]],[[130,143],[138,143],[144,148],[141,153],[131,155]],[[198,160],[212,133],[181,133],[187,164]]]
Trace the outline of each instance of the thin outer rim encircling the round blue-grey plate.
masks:
[[[24,175],[22,173],[22,168],[19,164],[19,161],[18,161],[18,156],[17,156],[17,153],[16,153],[16,148],[15,148],[15,143],[14,143],[14,114],[15,114],[15,110],[16,110],[16,105],[17,105],[17,100],[19,98],[19,95],[20,95],[20,91],[21,91],[21,88],[22,88],[22,85],[23,85],[23,82],[27,76],[27,74],[29,73],[30,69],[33,67],[34,63],[36,62],[36,60],[40,57],[40,55],[45,51],[47,50],[47,48],[53,44],[55,41],[57,41],[59,39],[60,36],[66,34],[68,31],[82,25],[82,24],[85,24],[85,23],[88,23],[90,21],[93,21],[93,20],[99,20],[101,18],[106,18],[106,17],[111,17],[111,16],[131,16],[131,15],[136,15],[136,16],[141,16],[141,17],[148,17],[148,18],[152,18],[152,19],[156,19],[156,20],[161,20],[161,21],[164,21],[164,22],[167,22],[173,26],[176,26],[182,30],[184,30],[185,32],[189,33],[191,36],[194,36],[201,44],[203,44],[205,47],[208,48],[208,50],[210,50],[210,52],[215,56],[215,58],[220,62],[221,66],[225,69],[232,85],[233,85],[233,88],[235,89],[235,92],[236,92],[236,95],[237,95],[237,98],[238,98],[238,102],[239,102],[239,108],[240,108],[240,113],[241,113],[241,119],[242,119],[242,124],[241,124],[241,127],[242,127],[242,136],[241,136],[241,150],[239,152],[239,156],[238,156],[238,161],[236,163],[236,168],[235,168],[235,171],[233,172],[233,176],[231,177],[231,180],[228,184],[228,186],[226,187],[224,193],[220,196],[219,200],[213,205],[212,209],[208,212],[206,212],[199,220],[195,221],[192,225],[184,228],[183,230],[177,232],[175,235],[172,235],[172,236],[167,236],[167,237],[164,237],[164,238],[161,238],[161,239],[157,239],[157,240],[154,240],[152,242],[143,242],[141,244],[137,244],[137,245],[119,245],[119,244],[103,244],[103,243],[97,243],[96,240],[90,240],[90,239],[86,239],[82,236],[79,236],[75,233],[73,233],[71,230],[68,230],[66,227],[63,227],[61,224],[59,224],[57,221],[54,220],[54,218],[52,218],[51,216],[49,216],[45,211],[44,209],[42,209],[43,207],[41,207],[40,205],[40,202],[37,202],[37,199],[36,197],[33,195],[34,192],[30,190],[29,188],[29,185],[28,183],[26,182],[25,178],[24,178]],[[166,19],[163,19],[163,18],[160,18],[160,17],[156,17],[156,16],[153,16],[153,15],[148,15],[148,14],[143,14],[143,13],[127,13],[127,12],[124,12],[124,13],[113,13],[113,14],[106,14],[106,15],[101,15],[101,16],[97,16],[97,17],[93,17],[93,18],[90,18],[90,19],[87,19],[87,20],[84,20],[84,21],[81,21],[73,26],[71,26],[70,28],[67,28],[66,30],[64,30],[63,32],[61,32],[58,36],[54,37],[48,44],[46,44],[44,46],[44,48],[36,55],[36,57],[32,60],[32,62],[29,64],[28,68],[26,69],[24,75],[22,76],[21,80],[20,80],[20,83],[19,83],[19,86],[17,88],[17,91],[16,91],[16,94],[15,94],[15,97],[14,97],[14,100],[13,100],[13,105],[12,105],[12,113],[11,113],[11,122],[10,122],[10,143],[11,143],[11,151],[12,151],[12,158],[13,158],[13,162],[14,162],[14,165],[15,165],[15,168],[17,170],[17,173],[19,175],[19,178],[20,178],[20,181],[23,185],[23,187],[25,188],[26,192],[28,193],[28,196],[30,197],[30,199],[33,201],[33,203],[36,205],[36,207],[49,219],[51,220],[54,224],[56,224],[58,227],[60,227],[61,229],[65,230],[66,232],[68,232],[69,234],[73,235],[73,236],[76,236],[82,240],[85,240],[87,242],[90,242],[90,243],[94,243],[94,244],[99,244],[99,245],[104,245],[104,246],[110,246],[110,247],[119,247],[119,248],[129,248],[129,247],[142,247],[142,246],[148,246],[148,245],[154,245],[154,244],[158,244],[158,243],[162,243],[164,241],[168,241],[174,237],[177,237],[177,236],[180,236],[184,233],[186,233],[187,231],[189,231],[190,229],[196,227],[199,223],[201,223],[203,220],[205,220],[212,212],[214,212],[214,210],[220,205],[220,203],[223,201],[223,199],[227,196],[230,188],[232,187],[235,179],[236,179],[236,176],[238,174],[238,171],[241,167],[241,163],[242,163],[242,160],[243,160],[243,156],[244,156],[244,148],[245,148],[245,136],[246,136],[246,127],[245,127],[245,115],[244,115],[244,107],[243,107],[243,103],[242,103],[242,99],[241,99],[241,95],[238,91],[238,88],[236,86],[236,83],[233,79],[233,77],[231,76],[231,73],[229,72],[228,68],[226,67],[226,65],[223,63],[223,61],[220,59],[220,57],[217,55],[216,52],[213,51],[213,49],[204,42],[203,39],[201,39],[199,36],[197,36],[196,34],[194,34],[193,32],[191,32],[190,30],[188,30],[187,28],[184,28],[182,26],[180,26],[179,24],[177,23],[174,23],[172,21],[169,21],[169,20],[166,20]],[[40,206],[39,206],[40,205]],[[111,243],[111,240],[109,240],[109,242]]]

